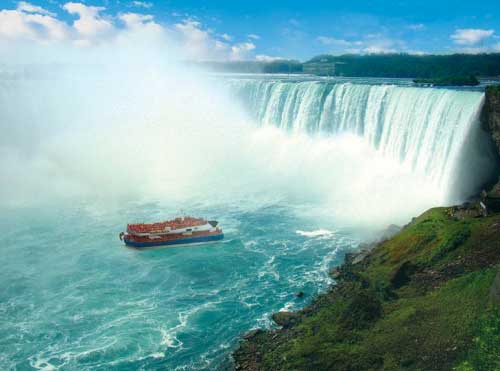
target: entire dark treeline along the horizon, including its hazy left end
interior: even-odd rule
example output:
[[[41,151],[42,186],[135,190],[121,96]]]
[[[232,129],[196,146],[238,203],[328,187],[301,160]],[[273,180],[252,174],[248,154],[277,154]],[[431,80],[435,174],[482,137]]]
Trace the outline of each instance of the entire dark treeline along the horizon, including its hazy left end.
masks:
[[[449,76],[500,76],[500,53],[490,54],[346,54],[319,55],[301,63],[297,60],[199,62],[217,72],[325,74],[329,66],[337,76],[440,78]],[[305,67],[304,67],[305,66]],[[328,73],[330,74],[330,73]]]

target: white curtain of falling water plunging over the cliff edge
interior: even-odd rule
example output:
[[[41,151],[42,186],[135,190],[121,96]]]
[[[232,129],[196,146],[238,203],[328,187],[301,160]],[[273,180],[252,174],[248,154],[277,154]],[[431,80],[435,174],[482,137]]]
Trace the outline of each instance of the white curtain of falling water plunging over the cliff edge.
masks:
[[[359,135],[447,189],[449,198],[470,195],[491,171],[488,151],[474,151],[476,158],[467,160],[469,172],[457,170],[467,143],[484,139],[478,123],[482,92],[269,79],[229,79],[227,84],[260,125],[310,135]],[[457,172],[477,179],[462,189]]]

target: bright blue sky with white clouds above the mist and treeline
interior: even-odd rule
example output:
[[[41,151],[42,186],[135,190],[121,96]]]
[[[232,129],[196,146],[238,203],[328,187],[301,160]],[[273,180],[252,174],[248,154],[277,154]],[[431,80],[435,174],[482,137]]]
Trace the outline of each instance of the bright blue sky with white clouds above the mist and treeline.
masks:
[[[175,34],[192,59],[500,51],[500,6],[492,0],[1,0],[0,9],[0,39],[85,44],[132,23],[154,23]]]

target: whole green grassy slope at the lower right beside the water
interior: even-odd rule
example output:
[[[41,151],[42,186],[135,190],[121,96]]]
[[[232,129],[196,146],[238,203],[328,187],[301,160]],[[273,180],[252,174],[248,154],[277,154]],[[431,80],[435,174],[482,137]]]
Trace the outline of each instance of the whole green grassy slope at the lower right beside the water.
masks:
[[[262,370],[499,370],[500,215],[457,221],[431,209],[300,313],[243,353]],[[354,278],[353,278],[354,277]],[[237,358],[237,356],[236,356]]]

